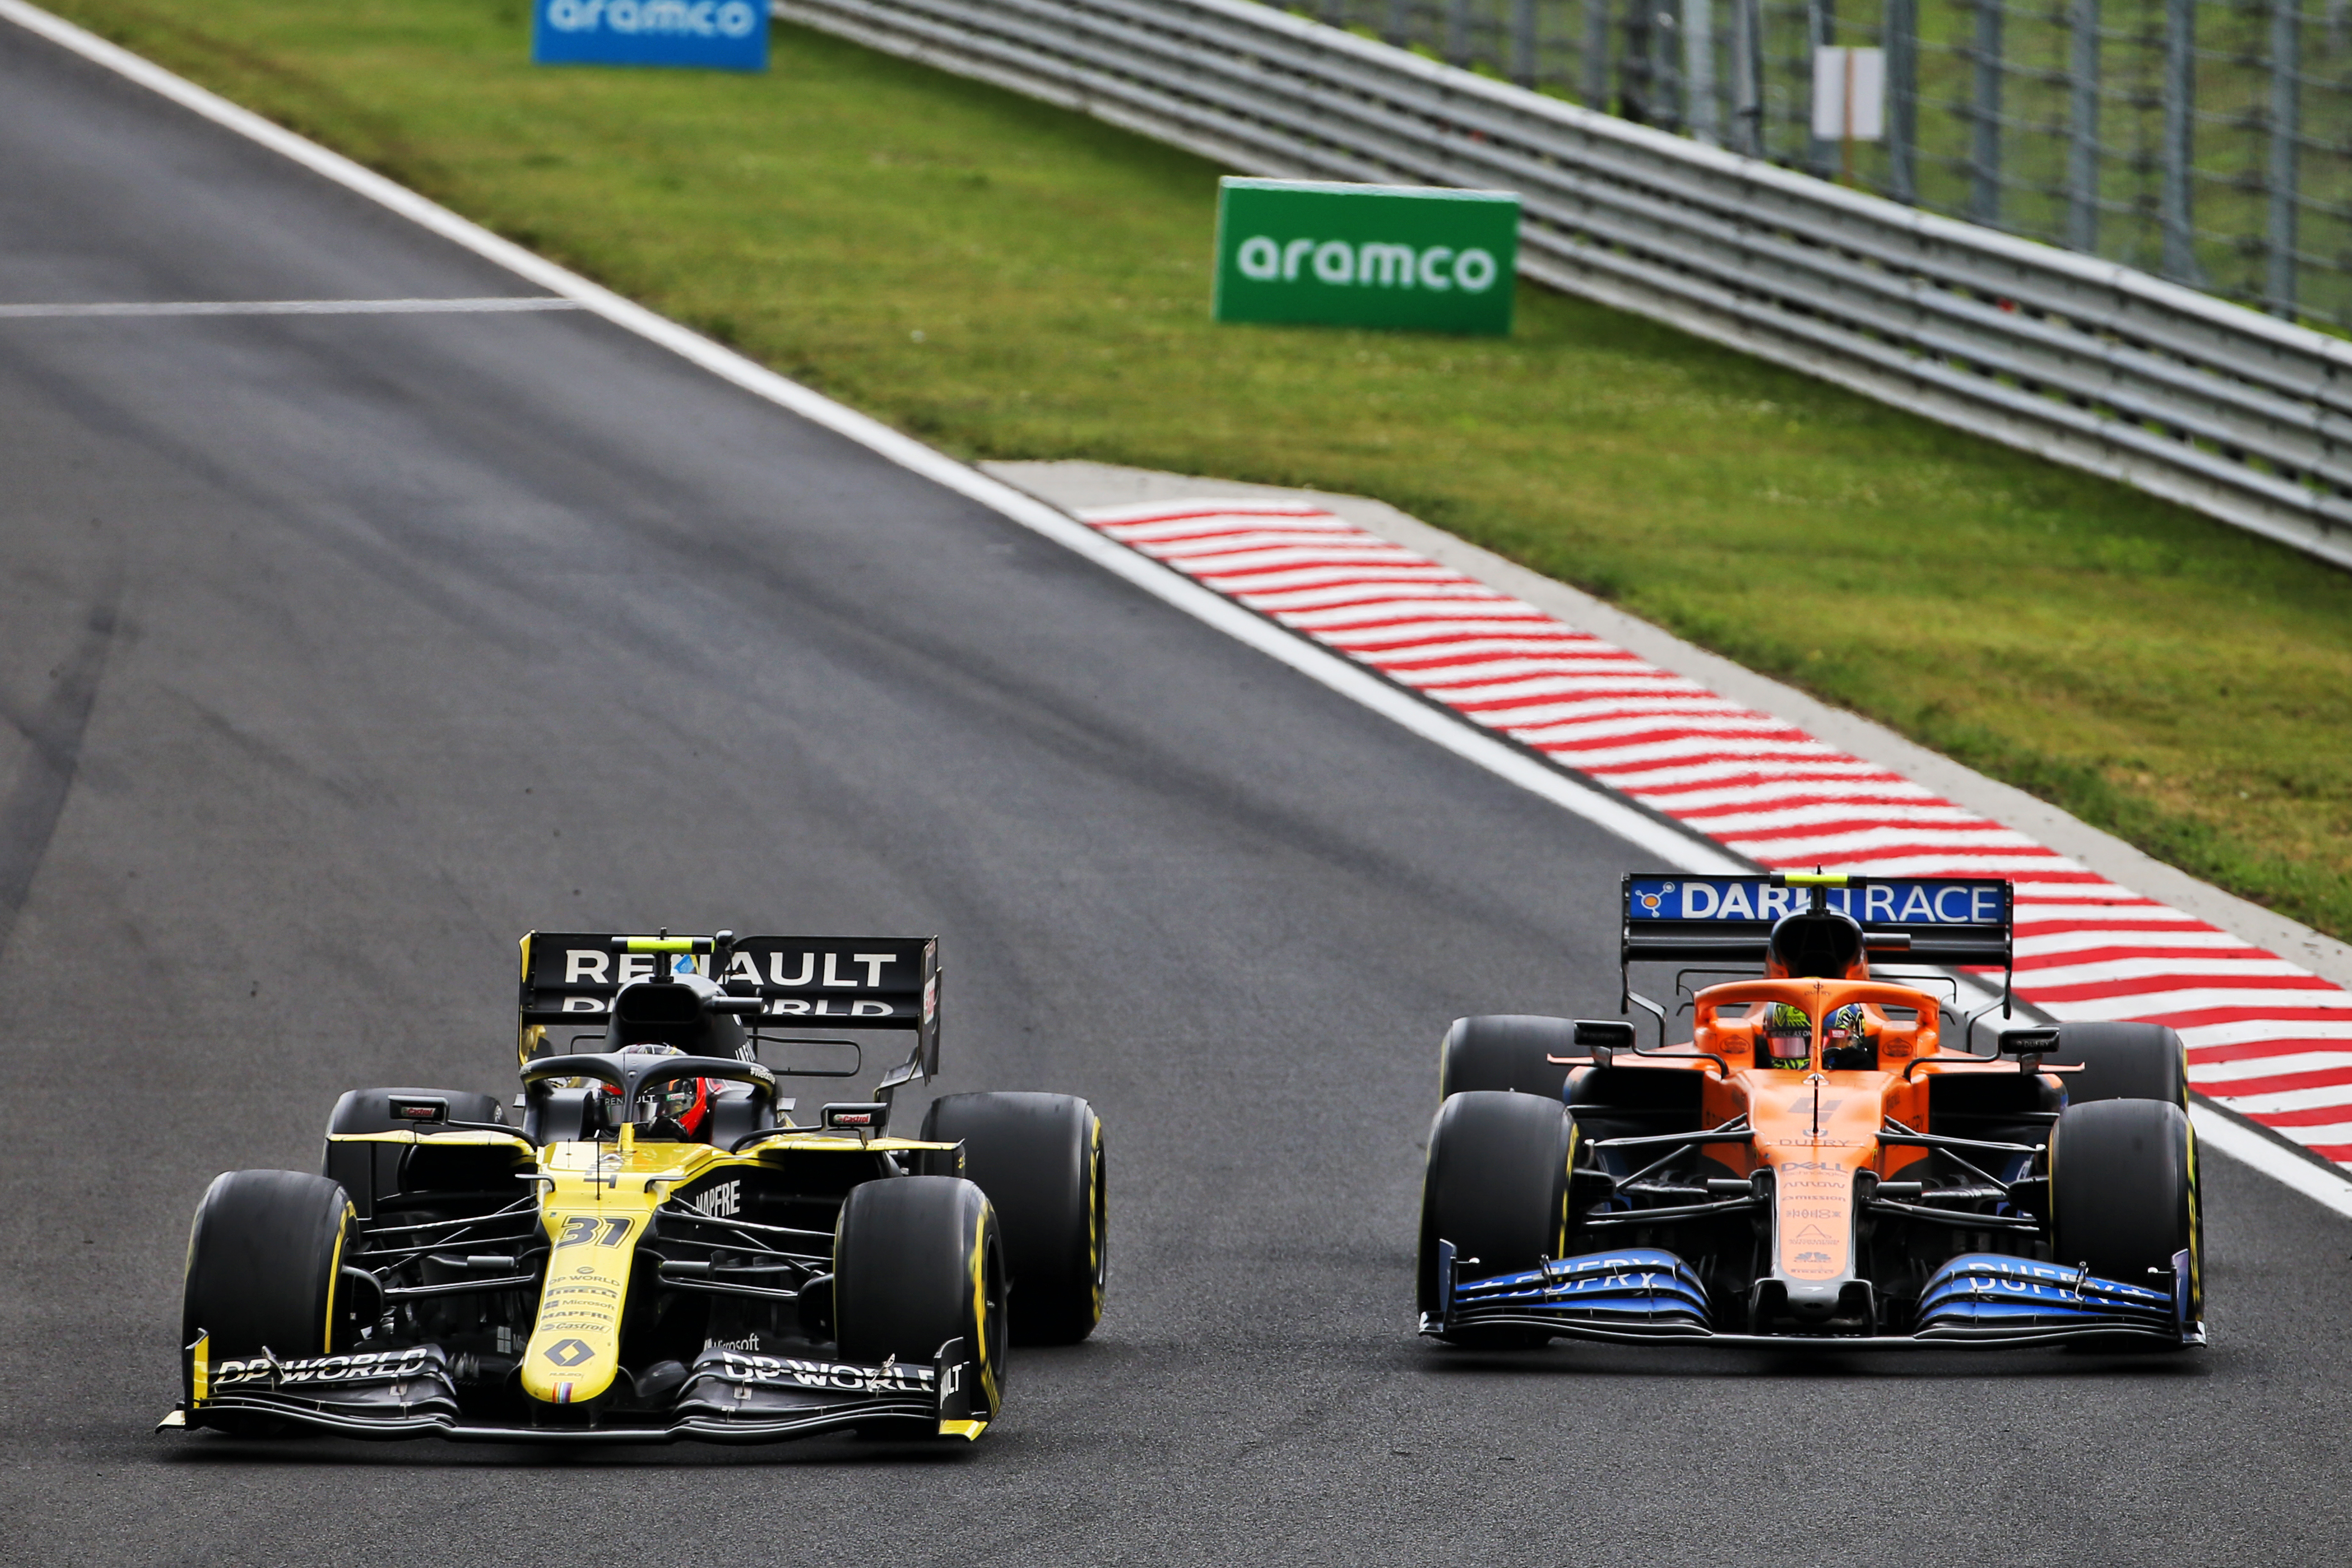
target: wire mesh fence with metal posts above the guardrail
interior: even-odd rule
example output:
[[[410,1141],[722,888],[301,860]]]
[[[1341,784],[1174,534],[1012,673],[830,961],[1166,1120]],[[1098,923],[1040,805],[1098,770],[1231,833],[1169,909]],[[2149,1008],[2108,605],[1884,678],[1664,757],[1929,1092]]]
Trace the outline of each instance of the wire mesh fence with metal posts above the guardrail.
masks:
[[[1303,0],[1588,108],[2352,329],[2352,0]],[[1813,49],[1886,52],[1872,143]]]

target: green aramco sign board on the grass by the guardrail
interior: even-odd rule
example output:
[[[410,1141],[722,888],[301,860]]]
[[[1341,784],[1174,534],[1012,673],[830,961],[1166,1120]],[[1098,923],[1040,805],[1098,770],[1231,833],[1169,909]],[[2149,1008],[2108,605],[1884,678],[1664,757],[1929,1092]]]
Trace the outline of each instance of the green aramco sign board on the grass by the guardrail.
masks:
[[[1216,320],[1510,331],[1519,197],[1225,179]]]

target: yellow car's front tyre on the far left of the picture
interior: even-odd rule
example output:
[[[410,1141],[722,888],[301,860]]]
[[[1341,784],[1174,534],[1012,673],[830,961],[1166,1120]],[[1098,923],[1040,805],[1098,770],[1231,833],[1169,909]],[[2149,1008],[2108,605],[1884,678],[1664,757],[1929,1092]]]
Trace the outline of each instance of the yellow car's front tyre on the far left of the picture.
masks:
[[[334,1354],[348,1328],[336,1309],[350,1199],[306,1171],[230,1171],[212,1182],[188,1229],[188,1272],[179,1300],[181,1396],[191,1422],[259,1436],[278,1422],[195,1408],[195,1356],[212,1363],[256,1356],[282,1361]]]

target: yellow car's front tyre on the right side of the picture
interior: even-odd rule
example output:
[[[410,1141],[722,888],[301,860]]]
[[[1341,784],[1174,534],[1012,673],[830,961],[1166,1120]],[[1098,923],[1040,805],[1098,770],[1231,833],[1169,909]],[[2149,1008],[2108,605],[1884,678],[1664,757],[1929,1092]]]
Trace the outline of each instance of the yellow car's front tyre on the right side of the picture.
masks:
[[[929,1366],[948,1340],[978,1363],[976,1415],[1004,1403],[1004,1244],[988,1194],[960,1175],[884,1175],[849,1190],[833,1232],[842,1361]]]

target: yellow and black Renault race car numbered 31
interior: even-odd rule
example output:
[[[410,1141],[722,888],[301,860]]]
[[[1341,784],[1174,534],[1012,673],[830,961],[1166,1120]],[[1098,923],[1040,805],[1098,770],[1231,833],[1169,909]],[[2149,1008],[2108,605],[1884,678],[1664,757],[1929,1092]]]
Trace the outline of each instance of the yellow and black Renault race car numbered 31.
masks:
[[[795,1119],[779,1079],[861,1074],[866,1030],[913,1051]],[[946,1095],[889,1135],[938,1070],[936,938],[532,933],[517,1053],[520,1121],[360,1088],[322,1175],[212,1182],[167,1427],[976,1439],[1007,1340],[1101,1319],[1084,1100]]]

